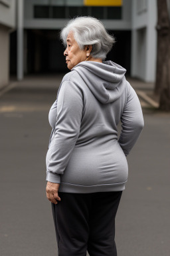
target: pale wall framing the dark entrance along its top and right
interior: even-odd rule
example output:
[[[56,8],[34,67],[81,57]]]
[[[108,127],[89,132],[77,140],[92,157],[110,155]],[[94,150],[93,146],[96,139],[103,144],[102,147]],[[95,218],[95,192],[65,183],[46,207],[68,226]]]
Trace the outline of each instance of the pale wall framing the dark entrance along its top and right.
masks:
[[[82,0],[65,1],[67,5],[82,5]],[[63,0],[25,0],[26,29],[60,29],[67,19],[34,19],[33,5],[62,5]],[[155,81],[157,48],[157,0],[124,0],[122,20],[102,20],[106,29],[131,30],[131,76],[143,81]]]

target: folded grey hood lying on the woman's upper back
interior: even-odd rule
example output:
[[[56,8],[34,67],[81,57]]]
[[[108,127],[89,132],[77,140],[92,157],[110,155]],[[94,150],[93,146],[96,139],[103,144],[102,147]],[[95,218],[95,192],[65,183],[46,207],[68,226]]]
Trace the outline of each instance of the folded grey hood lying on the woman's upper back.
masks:
[[[98,101],[104,104],[116,101],[126,86],[126,69],[113,61],[82,61],[71,70],[78,72]]]

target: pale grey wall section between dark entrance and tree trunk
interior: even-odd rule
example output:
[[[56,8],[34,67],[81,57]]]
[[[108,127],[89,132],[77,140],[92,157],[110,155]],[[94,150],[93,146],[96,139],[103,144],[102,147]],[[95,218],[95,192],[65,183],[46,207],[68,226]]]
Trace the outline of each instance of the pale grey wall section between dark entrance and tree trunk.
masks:
[[[145,3],[145,4],[141,4]],[[157,1],[132,0],[131,76],[155,81]]]

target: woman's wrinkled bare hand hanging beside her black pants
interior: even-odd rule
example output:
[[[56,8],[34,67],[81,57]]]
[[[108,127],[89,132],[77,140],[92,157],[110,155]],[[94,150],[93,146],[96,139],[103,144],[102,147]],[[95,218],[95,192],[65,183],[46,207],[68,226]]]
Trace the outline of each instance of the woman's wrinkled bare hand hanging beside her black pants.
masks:
[[[55,205],[58,203],[57,201],[61,201],[60,197],[58,197],[59,187],[59,183],[52,183],[48,181],[46,184],[46,197],[51,203],[54,203]]]

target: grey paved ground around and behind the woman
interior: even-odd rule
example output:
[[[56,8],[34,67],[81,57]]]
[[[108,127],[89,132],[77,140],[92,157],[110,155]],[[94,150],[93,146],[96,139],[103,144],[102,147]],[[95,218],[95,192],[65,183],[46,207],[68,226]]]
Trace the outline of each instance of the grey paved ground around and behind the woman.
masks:
[[[28,77],[0,93],[1,256],[57,255],[45,193],[45,155],[48,110],[61,79],[62,74]],[[153,86],[131,84],[143,92]],[[116,219],[118,255],[169,256],[170,114],[140,99],[145,129],[128,156],[129,179]]]

